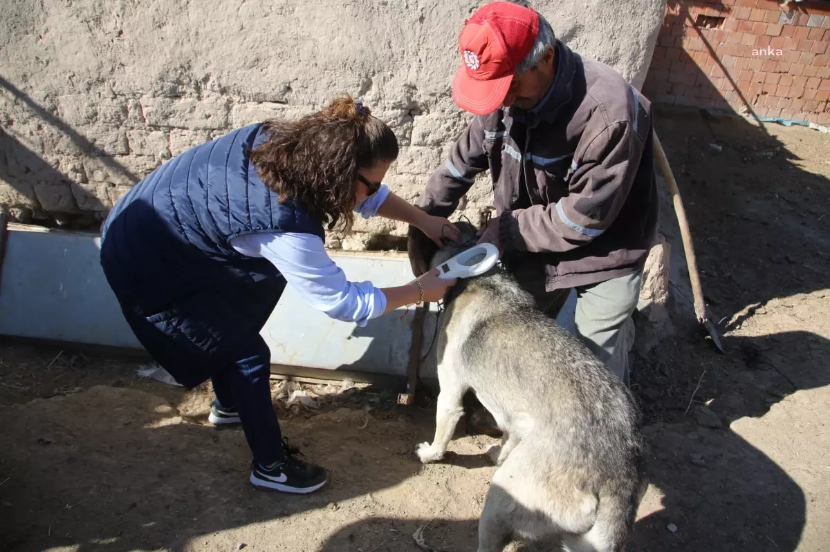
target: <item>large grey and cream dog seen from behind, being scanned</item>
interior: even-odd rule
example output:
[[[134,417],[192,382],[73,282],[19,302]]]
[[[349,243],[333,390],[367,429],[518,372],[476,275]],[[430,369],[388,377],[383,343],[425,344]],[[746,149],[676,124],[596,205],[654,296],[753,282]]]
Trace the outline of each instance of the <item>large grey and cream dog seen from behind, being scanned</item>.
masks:
[[[475,227],[458,226],[475,243]],[[445,246],[428,265],[459,250]],[[410,250],[413,270],[423,267],[412,258],[418,251]],[[622,552],[647,487],[640,413],[627,387],[503,269],[459,280],[445,303],[435,438],[417,456],[443,457],[462,396],[473,390],[503,432],[488,453],[500,467],[479,521],[479,552],[503,550],[513,536]]]

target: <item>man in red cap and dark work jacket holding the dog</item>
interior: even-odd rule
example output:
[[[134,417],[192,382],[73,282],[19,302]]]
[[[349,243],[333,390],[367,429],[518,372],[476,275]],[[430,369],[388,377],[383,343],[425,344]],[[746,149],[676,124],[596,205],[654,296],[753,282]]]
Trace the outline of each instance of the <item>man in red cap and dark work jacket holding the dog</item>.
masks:
[[[497,217],[480,241],[550,317],[575,288],[579,337],[628,384],[621,336],[657,230],[651,104],[518,2],[481,7],[459,46],[453,99],[475,117],[417,205],[450,215],[489,170]],[[416,274],[429,249],[411,230]]]

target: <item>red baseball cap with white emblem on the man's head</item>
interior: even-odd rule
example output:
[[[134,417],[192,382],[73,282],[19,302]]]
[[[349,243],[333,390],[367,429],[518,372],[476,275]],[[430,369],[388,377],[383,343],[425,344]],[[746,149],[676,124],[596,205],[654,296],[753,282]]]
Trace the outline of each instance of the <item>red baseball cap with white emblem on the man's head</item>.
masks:
[[[461,67],[452,80],[452,99],[476,115],[499,109],[516,65],[539,35],[539,14],[512,2],[490,2],[464,23],[458,36]]]

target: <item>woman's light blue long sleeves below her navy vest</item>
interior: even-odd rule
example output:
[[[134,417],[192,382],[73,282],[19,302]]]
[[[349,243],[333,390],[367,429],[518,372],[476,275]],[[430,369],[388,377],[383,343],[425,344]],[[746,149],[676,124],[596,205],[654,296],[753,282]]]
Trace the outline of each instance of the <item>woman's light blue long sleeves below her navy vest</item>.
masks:
[[[354,211],[364,219],[377,215],[389,193],[383,184]],[[234,238],[231,245],[243,255],[271,261],[311,307],[336,320],[366,326],[369,319],[386,310],[383,292],[371,282],[349,282],[316,235],[261,232]]]

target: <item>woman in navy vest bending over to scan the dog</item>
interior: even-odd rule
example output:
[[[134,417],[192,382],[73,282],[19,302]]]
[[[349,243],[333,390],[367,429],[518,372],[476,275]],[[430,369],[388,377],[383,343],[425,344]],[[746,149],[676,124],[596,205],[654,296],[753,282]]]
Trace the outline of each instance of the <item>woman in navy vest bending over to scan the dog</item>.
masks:
[[[251,483],[316,491],[324,468],[295,458],[271,404],[260,330],[286,283],[330,317],[364,326],[398,307],[437,301],[437,271],[395,288],[349,282],[325,253],[324,225],[354,211],[457,237],[447,219],[381,184],[398,157],[388,126],[350,97],[295,122],[239,128],[174,157],[134,186],[101,232],[101,265],[141,344],[182,385],[212,380],[213,424],[241,423]],[[291,321],[286,321],[291,323]]]

